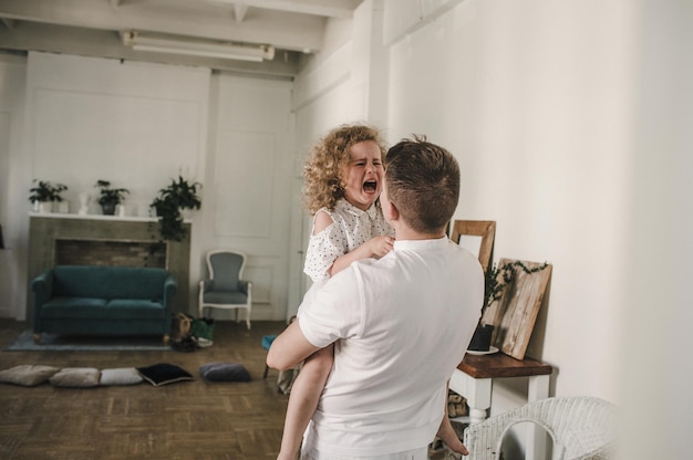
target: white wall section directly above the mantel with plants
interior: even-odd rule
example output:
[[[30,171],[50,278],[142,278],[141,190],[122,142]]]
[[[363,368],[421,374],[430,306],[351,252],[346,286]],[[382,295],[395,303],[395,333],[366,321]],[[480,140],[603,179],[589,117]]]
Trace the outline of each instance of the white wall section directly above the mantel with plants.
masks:
[[[145,216],[178,174],[200,181],[208,69],[30,53],[28,71],[27,179],[69,185],[73,212],[83,191],[100,212],[97,179],[127,188],[127,215]]]

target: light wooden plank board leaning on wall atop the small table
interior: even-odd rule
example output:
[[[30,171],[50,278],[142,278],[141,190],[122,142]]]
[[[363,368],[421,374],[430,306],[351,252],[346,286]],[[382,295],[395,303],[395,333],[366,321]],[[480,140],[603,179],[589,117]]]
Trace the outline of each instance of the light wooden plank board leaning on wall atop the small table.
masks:
[[[498,266],[513,263],[513,259],[500,259]],[[520,261],[532,270],[544,263]],[[503,273],[498,273],[503,276]],[[492,344],[516,359],[524,359],[529,338],[535,327],[539,307],[551,276],[551,265],[544,270],[526,273],[515,270],[515,280],[509,283],[499,300],[492,303],[482,322],[495,326]]]

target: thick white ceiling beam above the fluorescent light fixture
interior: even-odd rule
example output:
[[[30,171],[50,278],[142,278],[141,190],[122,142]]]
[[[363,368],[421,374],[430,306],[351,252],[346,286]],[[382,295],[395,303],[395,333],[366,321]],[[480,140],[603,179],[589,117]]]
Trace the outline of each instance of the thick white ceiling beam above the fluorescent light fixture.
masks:
[[[162,2],[120,1],[114,8],[113,1],[0,0],[0,17],[110,31],[142,30],[272,44],[277,49],[292,51],[321,50],[327,21],[319,15],[255,9],[245,14],[241,23],[237,23],[230,3],[182,0],[166,2],[166,8],[162,8]],[[307,1],[301,0],[300,3]]]

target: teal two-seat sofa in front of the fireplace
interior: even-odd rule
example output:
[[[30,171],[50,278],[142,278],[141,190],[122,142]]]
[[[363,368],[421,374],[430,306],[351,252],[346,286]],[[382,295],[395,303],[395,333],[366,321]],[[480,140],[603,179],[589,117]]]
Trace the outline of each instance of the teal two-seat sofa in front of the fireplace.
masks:
[[[58,265],[31,282],[34,342],[58,335],[162,335],[177,284],[164,269]]]

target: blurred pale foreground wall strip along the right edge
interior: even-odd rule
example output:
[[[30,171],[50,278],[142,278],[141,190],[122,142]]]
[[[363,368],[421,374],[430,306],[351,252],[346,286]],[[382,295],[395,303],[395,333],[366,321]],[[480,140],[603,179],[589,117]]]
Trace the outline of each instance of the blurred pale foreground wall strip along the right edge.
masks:
[[[620,459],[691,457],[693,4],[638,1]]]

